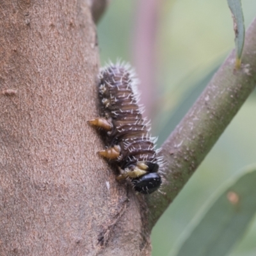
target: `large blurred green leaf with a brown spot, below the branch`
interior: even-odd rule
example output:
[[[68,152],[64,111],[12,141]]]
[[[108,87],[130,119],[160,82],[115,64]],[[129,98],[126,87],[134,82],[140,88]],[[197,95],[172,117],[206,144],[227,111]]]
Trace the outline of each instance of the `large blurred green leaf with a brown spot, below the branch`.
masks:
[[[207,209],[191,221],[172,256],[223,256],[243,236],[256,212],[256,167],[218,189]]]

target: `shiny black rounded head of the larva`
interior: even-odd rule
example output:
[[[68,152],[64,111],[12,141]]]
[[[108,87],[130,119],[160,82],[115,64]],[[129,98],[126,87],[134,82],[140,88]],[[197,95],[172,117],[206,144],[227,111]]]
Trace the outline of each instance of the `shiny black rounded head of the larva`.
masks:
[[[134,190],[142,194],[151,194],[156,191],[162,183],[161,176],[156,173],[147,173],[139,178],[132,179]]]

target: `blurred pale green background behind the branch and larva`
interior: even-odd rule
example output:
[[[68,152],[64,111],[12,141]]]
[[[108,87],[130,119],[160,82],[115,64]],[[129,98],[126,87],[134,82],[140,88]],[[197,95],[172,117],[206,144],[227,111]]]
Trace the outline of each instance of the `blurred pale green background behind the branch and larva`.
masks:
[[[139,0],[112,0],[98,24],[102,65],[118,58],[135,68],[136,28],[143,8]],[[145,1],[144,1],[145,2]],[[150,99],[152,134],[158,145],[204,90],[212,74],[234,48],[234,31],[227,1],[156,1],[154,47],[156,93]],[[255,17],[256,1],[242,1],[246,28]],[[242,58],[243,62],[243,58]],[[151,74],[152,76],[152,74]],[[145,88],[142,88],[145,90]],[[144,92],[143,92],[144,93]],[[152,232],[152,255],[169,255],[173,244],[209,196],[241,169],[256,163],[256,93],[222,134],[195,175],[157,222]],[[256,182],[255,182],[256,184]],[[256,200],[256,198],[255,198]],[[256,255],[256,219],[230,256]]]

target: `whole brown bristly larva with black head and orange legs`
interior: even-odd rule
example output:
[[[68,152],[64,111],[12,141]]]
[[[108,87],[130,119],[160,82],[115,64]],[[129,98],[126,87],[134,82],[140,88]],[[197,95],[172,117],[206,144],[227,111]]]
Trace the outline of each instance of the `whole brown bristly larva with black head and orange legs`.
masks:
[[[90,124],[107,131],[109,148],[99,153],[115,159],[120,179],[131,179],[136,191],[149,194],[161,185],[159,157],[154,138],[138,106],[136,80],[127,65],[109,65],[100,72],[99,98],[102,118]]]

